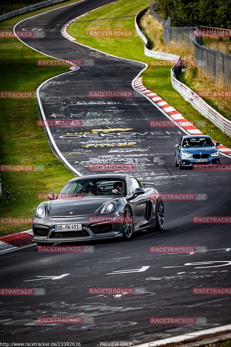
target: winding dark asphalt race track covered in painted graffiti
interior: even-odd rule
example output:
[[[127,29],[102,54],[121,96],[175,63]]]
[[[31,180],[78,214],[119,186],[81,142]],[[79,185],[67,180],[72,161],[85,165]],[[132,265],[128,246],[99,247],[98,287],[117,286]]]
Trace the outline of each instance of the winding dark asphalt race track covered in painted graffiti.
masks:
[[[44,29],[39,25],[66,23],[109,2],[86,0],[26,19],[18,26]],[[78,243],[94,246],[93,253],[38,253],[31,246],[2,254],[2,287],[45,288],[46,293],[1,297],[1,337],[9,342],[81,342],[82,346],[109,341],[138,344],[230,323],[228,295],[192,294],[194,287],[229,286],[230,225],[195,224],[192,218],[230,215],[230,172],[179,171],[174,145],[184,131],[150,128],[150,120],[166,120],[166,116],[138,93],[132,98],[89,98],[89,90],[133,90],[132,80],[144,64],[71,42],[62,36],[62,26],[51,24],[45,29],[45,39],[24,41],[52,57],[95,61],[93,67],[57,76],[40,89],[47,119],[83,120],[79,128],[50,128],[64,158],[82,175],[92,173],[89,163],[133,162],[132,173],[140,179],[154,179],[161,193],[206,194],[207,200],[165,201],[164,231],[140,231],[128,242]],[[221,160],[231,162],[225,156]],[[154,245],[206,246],[208,251],[152,254],[149,247]],[[89,287],[143,287],[146,293],[89,295]],[[95,322],[37,324],[38,316],[94,317]],[[205,317],[207,323],[153,325],[149,323],[153,316]]]

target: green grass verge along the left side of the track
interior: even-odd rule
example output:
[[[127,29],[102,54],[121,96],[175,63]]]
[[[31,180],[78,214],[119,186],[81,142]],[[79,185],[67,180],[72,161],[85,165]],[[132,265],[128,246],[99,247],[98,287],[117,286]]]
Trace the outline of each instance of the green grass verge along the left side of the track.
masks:
[[[66,3],[71,3],[69,1]],[[62,3],[64,5],[64,3]],[[60,4],[48,9],[59,7]],[[44,10],[30,12],[30,16]],[[28,14],[4,22],[1,27],[12,27]],[[38,67],[37,59],[44,55],[28,48],[18,39],[1,39],[1,91],[36,91],[46,79],[68,71],[67,67]],[[1,164],[42,164],[41,172],[1,172],[2,197],[0,217],[33,218],[37,193],[58,192],[73,174],[54,156],[44,129],[36,126],[36,99],[0,99]],[[0,224],[0,236],[27,230],[31,225]]]

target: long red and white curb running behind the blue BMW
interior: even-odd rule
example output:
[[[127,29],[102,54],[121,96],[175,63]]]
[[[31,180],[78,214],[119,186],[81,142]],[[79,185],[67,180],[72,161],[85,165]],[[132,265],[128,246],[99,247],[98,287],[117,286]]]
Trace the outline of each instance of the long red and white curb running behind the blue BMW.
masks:
[[[144,95],[146,95],[149,99],[151,99],[154,104],[156,104],[163,112],[166,113],[169,117],[172,118],[175,122],[177,122],[181,128],[185,129],[190,135],[204,135],[201,130],[197,129],[193,124],[191,124],[187,119],[185,119],[181,113],[179,113],[174,107],[170,106],[165,100],[161,99],[159,95],[153,93],[151,90],[146,88],[142,83],[142,77],[136,78],[134,82],[134,87],[136,90]],[[187,126],[183,126],[182,123],[186,123]],[[218,142],[213,140],[214,142]],[[221,153],[229,155],[231,157],[231,149],[223,146],[217,146],[217,149]]]

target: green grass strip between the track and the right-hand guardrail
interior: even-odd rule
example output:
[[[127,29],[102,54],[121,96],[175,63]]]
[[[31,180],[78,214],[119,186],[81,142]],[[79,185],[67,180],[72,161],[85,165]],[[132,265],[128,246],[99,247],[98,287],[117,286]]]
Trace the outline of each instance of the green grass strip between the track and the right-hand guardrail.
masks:
[[[108,16],[120,17],[136,15],[144,8],[149,7],[149,4],[150,1],[146,0],[133,0],[131,2],[120,0],[98,10],[92,11],[85,15],[84,18],[81,17],[78,20],[102,19],[107,18]],[[143,84],[148,89],[161,96],[161,98],[176,108],[187,120],[206,120],[207,126],[200,127],[199,129],[203,133],[210,135],[213,139],[216,139],[216,141],[219,141],[228,147],[231,145],[231,139],[229,136],[226,136],[219,128],[214,126],[212,122],[205,119],[172,88],[169,67],[151,67],[149,65],[151,58],[144,56],[144,43],[140,37],[88,36],[89,30],[108,29],[127,29],[134,30],[135,32],[134,17],[108,20],[105,19],[85,23],[72,23],[68,27],[68,32],[75,37],[78,42],[84,43],[90,47],[114,54],[119,57],[146,62],[149,67],[142,73],[141,76],[143,76]]]

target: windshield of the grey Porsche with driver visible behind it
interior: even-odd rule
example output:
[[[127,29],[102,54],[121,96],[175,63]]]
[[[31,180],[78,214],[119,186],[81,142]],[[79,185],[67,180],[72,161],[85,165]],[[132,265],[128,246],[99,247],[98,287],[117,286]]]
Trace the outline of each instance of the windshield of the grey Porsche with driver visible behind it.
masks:
[[[122,179],[78,179],[68,182],[57,198],[125,194],[126,185]]]

